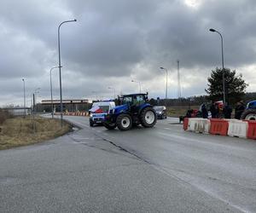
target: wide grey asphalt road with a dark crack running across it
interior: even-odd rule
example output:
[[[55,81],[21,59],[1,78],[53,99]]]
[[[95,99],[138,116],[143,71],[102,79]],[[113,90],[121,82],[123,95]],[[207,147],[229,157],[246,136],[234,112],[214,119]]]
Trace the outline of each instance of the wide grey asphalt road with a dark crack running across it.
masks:
[[[89,127],[0,151],[0,212],[256,212],[256,141]]]

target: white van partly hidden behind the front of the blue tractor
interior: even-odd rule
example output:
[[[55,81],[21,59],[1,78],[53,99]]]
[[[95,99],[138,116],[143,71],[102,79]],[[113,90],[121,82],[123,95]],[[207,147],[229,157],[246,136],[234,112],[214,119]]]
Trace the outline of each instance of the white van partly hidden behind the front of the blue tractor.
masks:
[[[107,113],[114,107],[115,103],[113,101],[94,102],[89,110],[90,126],[92,127],[94,124],[102,124]]]

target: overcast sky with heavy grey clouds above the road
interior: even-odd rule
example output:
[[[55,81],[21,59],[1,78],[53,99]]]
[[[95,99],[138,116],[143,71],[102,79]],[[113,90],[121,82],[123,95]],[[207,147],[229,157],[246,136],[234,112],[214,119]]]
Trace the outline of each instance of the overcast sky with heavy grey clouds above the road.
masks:
[[[256,90],[255,0],[1,0],[0,106],[50,98],[49,69],[58,65],[61,21],[63,99],[108,98],[148,91],[150,97],[177,97],[177,60],[182,95],[203,95],[207,77],[221,66],[236,69]],[[52,72],[59,98],[58,70]]]

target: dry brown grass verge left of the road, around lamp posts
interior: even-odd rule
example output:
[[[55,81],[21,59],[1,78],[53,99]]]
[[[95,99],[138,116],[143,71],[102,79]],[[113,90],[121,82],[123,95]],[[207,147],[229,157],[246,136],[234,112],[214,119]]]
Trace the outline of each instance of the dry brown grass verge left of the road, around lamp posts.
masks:
[[[33,128],[32,118],[9,118],[0,126],[0,150],[20,147],[53,139],[72,130],[72,126],[60,120],[35,118]]]

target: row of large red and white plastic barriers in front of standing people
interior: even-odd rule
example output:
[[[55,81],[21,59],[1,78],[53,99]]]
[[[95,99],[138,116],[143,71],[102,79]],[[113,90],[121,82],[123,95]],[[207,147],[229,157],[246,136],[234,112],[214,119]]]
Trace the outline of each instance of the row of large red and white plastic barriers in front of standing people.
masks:
[[[256,121],[218,118],[184,118],[183,130],[256,140]]]

